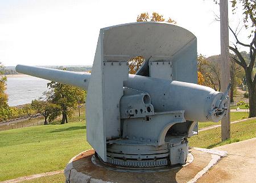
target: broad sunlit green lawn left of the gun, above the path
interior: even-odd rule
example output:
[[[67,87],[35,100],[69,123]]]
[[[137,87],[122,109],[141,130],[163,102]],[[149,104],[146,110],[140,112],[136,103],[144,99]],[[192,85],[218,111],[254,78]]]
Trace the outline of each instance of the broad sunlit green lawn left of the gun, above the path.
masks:
[[[0,139],[0,181],[64,169],[90,148],[84,121],[0,131]]]

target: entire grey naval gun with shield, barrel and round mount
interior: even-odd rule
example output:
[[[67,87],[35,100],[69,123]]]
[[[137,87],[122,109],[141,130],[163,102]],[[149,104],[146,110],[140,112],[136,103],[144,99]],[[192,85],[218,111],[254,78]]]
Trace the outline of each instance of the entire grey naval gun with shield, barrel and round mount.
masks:
[[[224,93],[197,84],[196,37],[174,24],[100,29],[92,73],[17,65],[23,74],[87,90],[87,141],[104,164],[159,168],[184,164],[198,121],[218,122]],[[143,56],[136,74],[128,61]]]

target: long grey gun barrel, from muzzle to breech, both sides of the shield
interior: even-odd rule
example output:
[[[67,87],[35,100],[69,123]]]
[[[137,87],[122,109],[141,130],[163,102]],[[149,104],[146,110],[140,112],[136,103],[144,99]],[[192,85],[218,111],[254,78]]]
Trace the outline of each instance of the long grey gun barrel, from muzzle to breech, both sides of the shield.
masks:
[[[90,73],[82,74],[44,67],[17,65],[16,71],[83,90],[88,89],[90,80]],[[224,95],[222,92],[216,92],[209,87],[133,74],[129,74],[129,79],[123,83],[123,86],[148,92],[156,112],[185,110],[186,120],[191,121],[217,122],[221,120],[228,101],[226,96],[222,97]]]

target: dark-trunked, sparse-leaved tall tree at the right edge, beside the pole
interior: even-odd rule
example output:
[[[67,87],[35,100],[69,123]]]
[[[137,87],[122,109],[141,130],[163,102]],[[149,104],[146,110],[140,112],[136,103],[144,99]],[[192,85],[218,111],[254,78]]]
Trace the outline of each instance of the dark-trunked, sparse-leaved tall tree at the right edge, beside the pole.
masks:
[[[243,70],[245,70],[246,82],[249,91],[249,107],[250,107],[250,117],[256,116],[256,74],[253,73],[253,69],[255,67],[255,57],[256,57],[256,3],[255,0],[233,0],[232,8],[233,12],[237,11],[237,3],[240,3],[243,7],[243,23],[246,29],[250,29],[250,34],[248,35],[247,43],[241,42],[238,38],[238,33],[241,31],[233,31],[231,27],[229,27],[232,32],[236,43],[233,46],[229,46],[229,49],[232,50],[234,55],[231,56],[231,59],[240,65]],[[246,63],[246,58],[243,56],[237,46],[243,46],[243,48],[249,49],[250,61]]]

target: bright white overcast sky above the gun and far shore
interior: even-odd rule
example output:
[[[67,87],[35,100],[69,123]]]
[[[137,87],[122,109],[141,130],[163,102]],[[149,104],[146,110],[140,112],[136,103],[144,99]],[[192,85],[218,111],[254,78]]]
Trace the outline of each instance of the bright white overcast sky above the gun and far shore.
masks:
[[[212,0],[0,0],[0,62],[92,65],[100,28],[136,22],[142,12],[154,11],[191,31],[198,54],[220,54],[219,6]],[[229,24],[242,25],[242,16],[233,15],[230,4]],[[231,33],[229,37],[232,44]],[[238,37],[247,40],[244,31]]]

